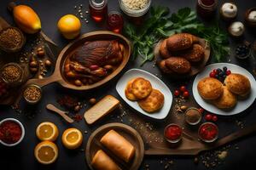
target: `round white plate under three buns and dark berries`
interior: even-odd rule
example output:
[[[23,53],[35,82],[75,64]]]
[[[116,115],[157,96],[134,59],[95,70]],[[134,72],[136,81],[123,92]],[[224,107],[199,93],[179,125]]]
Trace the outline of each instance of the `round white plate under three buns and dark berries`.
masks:
[[[213,70],[213,69],[218,69],[218,68],[223,68],[224,66],[228,67],[228,70],[230,70],[233,73],[239,73],[241,75],[246,76],[249,81],[251,82],[251,93],[250,95],[247,97],[247,99],[238,99],[236,106],[231,109],[231,110],[221,110],[218,109],[216,106],[207,103],[206,100],[202,99],[200,94],[197,91],[197,84],[198,82],[204,78],[204,77],[209,77],[209,73]],[[247,108],[253,104],[253,101],[256,98],[256,81],[255,78],[253,77],[253,75],[247,71],[246,69],[242,68],[241,66],[238,65],[233,65],[233,64],[229,64],[229,63],[216,63],[216,64],[212,64],[212,65],[207,65],[206,68],[201,71],[200,74],[198,74],[195,77],[195,81],[193,82],[193,95],[195,98],[195,101],[201,105],[202,108],[204,108],[207,111],[210,111],[212,113],[215,113],[217,115],[222,115],[222,116],[231,116],[231,115],[236,115],[238,113],[241,113],[242,111],[247,110]]]

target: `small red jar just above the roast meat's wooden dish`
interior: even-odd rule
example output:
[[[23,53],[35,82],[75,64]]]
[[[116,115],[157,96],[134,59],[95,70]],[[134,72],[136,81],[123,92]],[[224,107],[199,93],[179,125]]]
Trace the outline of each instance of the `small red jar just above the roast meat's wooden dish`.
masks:
[[[117,11],[108,13],[108,30],[120,33],[123,30],[124,20],[122,14]]]

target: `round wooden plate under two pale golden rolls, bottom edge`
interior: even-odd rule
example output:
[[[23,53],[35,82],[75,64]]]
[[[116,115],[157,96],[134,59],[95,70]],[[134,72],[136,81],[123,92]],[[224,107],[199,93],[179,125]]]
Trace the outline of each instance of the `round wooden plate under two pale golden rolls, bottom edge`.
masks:
[[[122,135],[125,139],[127,139],[136,149],[135,156],[133,157],[133,159],[128,163],[125,163],[125,161],[123,161],[122,164],[124,163],[125,167],[124,165],[122,166],[124,167],[124,169],[131,169],[131,170],[138,169],[143,161],[143,156],[144,156],[143,139],[134,128],[118,122],[113,122],[113,123],[108,123],[106,125],[103,125],[102,127],[97,128],[96,131],[91,133],[90,138],[88,139],[88,142],[86,144],[86,150],[85,150],[85,158],[88,166],[90,167],[90,169],[92,170],[94,169],[91,166],[91,161],[93,156],[95,156],[96,151],[100,149],[102,149],[105,152],[107,151],[106,153],[108,154],[108,156],[110,156],[113,159],[113,161],[115,161],[120,166],[119,162],[121,160],[117,160],[116,159],[117,157],[113,156],[110,150],[106,149],[105,147],[102,147],[100,143],[102,136],[108,133],[108,131],[112,129],[115,130],[120,135]]]

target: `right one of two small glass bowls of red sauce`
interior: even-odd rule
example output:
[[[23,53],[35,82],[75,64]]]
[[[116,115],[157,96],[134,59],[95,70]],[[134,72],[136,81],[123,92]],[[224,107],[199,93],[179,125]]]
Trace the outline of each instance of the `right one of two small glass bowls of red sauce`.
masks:
[[[205,122],[201,124],[198,129],[199,138],[207,143],[214,142],[218,139],[218,127],[212,122]]]

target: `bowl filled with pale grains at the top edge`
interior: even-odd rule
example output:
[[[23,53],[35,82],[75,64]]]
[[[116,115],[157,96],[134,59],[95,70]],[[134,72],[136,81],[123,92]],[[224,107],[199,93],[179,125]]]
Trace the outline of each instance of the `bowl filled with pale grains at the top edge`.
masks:
[[[141,17],[148,12],[151,0],[119,0],[119,7],[130,17]]]

